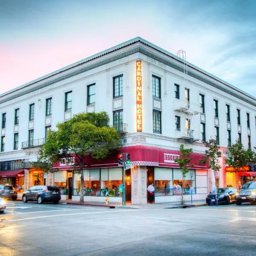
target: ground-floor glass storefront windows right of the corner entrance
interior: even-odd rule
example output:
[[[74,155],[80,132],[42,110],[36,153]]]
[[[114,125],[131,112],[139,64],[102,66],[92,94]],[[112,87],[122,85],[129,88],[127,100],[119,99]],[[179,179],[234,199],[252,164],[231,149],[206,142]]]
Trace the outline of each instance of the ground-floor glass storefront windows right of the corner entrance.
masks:
[[[192,173],[192,175],[191,175]],[[195,170],[191,169],[185,177],[185,188],[183,194],[189,194],[190,187],[195,188]],[[182,173],[175,168],[154,168],[155,196],[171,196],[182,194]],[[196,190],[196,189],[195,189]]]

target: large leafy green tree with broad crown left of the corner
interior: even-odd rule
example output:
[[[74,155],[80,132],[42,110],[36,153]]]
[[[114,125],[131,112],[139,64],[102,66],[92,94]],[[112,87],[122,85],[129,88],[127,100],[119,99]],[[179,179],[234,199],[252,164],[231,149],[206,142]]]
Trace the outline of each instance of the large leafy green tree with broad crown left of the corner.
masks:
[[[109,117],[106,112],[79,113],[67,122],[57,125],[57,131],[50,131],[44,145],[38,153],[35,167],[45,173],[56,172],[52,168],[61,159],[73,159],[73,166],[79,166],[75,172],[81,175],[80,202],[84,202],[84,166],[86,156],[104,159],[121,146],[118,132],[108,126]]]

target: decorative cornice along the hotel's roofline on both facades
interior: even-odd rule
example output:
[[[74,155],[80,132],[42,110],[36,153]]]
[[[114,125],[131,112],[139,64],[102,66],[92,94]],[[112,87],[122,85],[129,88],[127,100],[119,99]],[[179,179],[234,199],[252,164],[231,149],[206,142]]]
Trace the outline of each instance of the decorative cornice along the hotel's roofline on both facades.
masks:
[[[128,47],[131,44],[135,44],[135,43],[138,43],[138,42],[140,42],[142,44],[135,45],[134,48],[129,49],[126,52],[118,53],[118,54],[116,54],[114,56],[111,56],[110,58],[105,58],[104,60],[96,61],[93,64],[88,64],[87,66],[81,67],[81,68],[79,68],[77,70],[72,70],[73,68],[77,68],[81,64],[84,64],[84,63],[89,62],[89,61],[93,61],[96,58],[102,57],[103,55],[110,54],[113,51],[116,51],[116,50],[124,48],[124,47]],[[119,60],[121,58],[125,58],[125,57],[127,57],[129,55],[132,55],[134,53],[137,53],[137,52],[140,52],[140,53],[142,53],[142,54],[144,54],[144,55],[146,55],[146,56],[148,56],[150,58],[153,58],[154,60],[159,61],[160,63],[163,63],[163,64],[165,64],[165,65],[167,65],[169,67],[172,67],[172,68],[174,68],[176,70],[179,70],[180,72],[183,73],[182,61],[177,56],[172,55],[171,53],[168,53],[168,52],[164,51],[163,49],[154,46],[153,44],[143,40],[142,38],[134,38],[134,40],[130,40],[130,41],[125,42],[125,43],[115,47],[115,49],[114,49],[114,47],[112,47],[113,49],[111,48],[109,50],[106,50],[106,51],[104,51],[102,53],[99,53],[99,55],[93,55],[92,57],[89,57],[89,58],[85,59],[84,61],[81,61],[80,63],[76,63],[76,65],[75,64],[70,65],[69,67],[66,67],[66,68],[62,69],[59,72],[52,73],[49,76],[45,76],[45,77],[43,77],[41,79],[35,80],[34,82],[32,81],[31,84],[27,84],[26,86],[24,86],[24,87],[22,87],[20,89],[18,88],[17,89],[17,90],[19,90],[18,93],[15,93],[15,91],[6,93],[6,95],[11,94],[11,96],[7,96],[6,98],[3,98],[4,96],[6,96],[6,95],[3,94],[3,95],[1,95],[1,98],[3,98],[3,99],[0,99],[0,104],[2,104],[4,102],[7,102],[9,100],[15,99],[17,97],[23,96],[23,95],[25,95],[27,93],[31,93],[31,92],[34,92],[36,90],[40,90],[40,89],[42,89],[44,87],[47,87],[47,86],[49,86],[51,84],[55,84],[55,83],[57,83],[59,81],[62,81],[64,79],[68,79],[70,77],[79,75],[79,74],[84,73],[84,72],[86,72],[88,70],[92,70],[92,69],[94,69],[96,67],[100,67],[102,65],[108,64],[108,63],[110,63],[112,61],[116,61],[116,60]],[[152,49],[157,50],[158,52],[161,52],[162,54],[166,55],[167,58],[164,58],[164,57],[162,57],[160,55],[157,55],[155,52],[152,52],[150,49],[145,49],[145,46],[151,47]],[[177,61],[180,62],[180,65],[177,64]],[[195,79],[198,79],[200,81],[203,81],[204,83],[209,84],[209,85],[211,85],[211,86],[213,86],[215,88],[218,88],[219,90],[224,91],[225,93],[228,93],[228,94],[230,94],[232,96],[235,96],[236,98],[241,99],[244,102],[247,102],[247,103],[249,103],[249,104],[251,104],[253,106],[256,106],[256,100],[253,98],[253,96],[247,95],[246,93],[240,91],[239,89],[236,89],[235,87],[232,87],[231,85],[224,83],[224,81],[221,81],[220,79],[218,80],[218,78],[216,78],[215,76],[211,76],[210,74],[208,74],[206,72],[204,73],[204,71],[202,71],[199,68],[193,66],[192,64],[188,64],[188,67],[190,67],[190,68],[195,70],[195,71],[193,71],[191,69],[188,69],[187,72],[188,72],[189,76],[191,76],[191,77],[193,77]],[[68,70],[70,70],[69,73],[63,74],[61,76],[62,72],[64,72],[64,71],[68,72]],[[199,73],[202,73],[203,75],[200,75]],[[54,77],[54,76],[57,76],[57,75],[58,75],[58,77],[53,78],[50,81],[42,82],[42,81],[44,81],[46,79],[49,79],[49,77]],[[209,76],[210,79],[206,78],[205,76]],[[212,81],[212,79],[218,81],[219,83],[221,83],[223,85],[218,84],[218,83]],[[28,86],[30,86],[32,84],[39,83],[39,82],[42,82],[42,83],[38,84],[38,85],[36,85],[36,86],[34,86],[32,88],[27,88],[26,89],[26,87],[28,87]],[[227,87],[229,87],[230,89],[227,88]],[[236,90],[237,92],[235,92],[234,90]],[[247,99],[243,95],[245,95],[247,97],[250,97],[252,100]]]

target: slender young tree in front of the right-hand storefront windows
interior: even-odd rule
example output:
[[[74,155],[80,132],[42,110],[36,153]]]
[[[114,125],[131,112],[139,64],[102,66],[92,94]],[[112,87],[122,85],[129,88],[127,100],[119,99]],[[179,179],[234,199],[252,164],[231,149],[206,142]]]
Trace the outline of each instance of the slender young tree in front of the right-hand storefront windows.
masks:
[[[180,158],[175,158],[175,163],[178,163],[182,173],[182,193],[181,193],[181,204],[184,204],[183,189],[185,188],[185,177],[189,172],[188,167],[193,167],[193,164],[189,164],[193,157],[190,154],[193,152],[192,148],[184,148],[184,145],[180,145]]]

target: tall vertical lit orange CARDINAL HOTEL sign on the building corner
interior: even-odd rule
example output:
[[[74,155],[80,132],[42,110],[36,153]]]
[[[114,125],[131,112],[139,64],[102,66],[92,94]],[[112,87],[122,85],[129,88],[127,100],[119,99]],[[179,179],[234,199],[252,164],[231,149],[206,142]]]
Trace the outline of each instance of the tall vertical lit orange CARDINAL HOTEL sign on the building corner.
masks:
[[[137,131],[142,131],[142,79],[141,61],[136,61]]]

